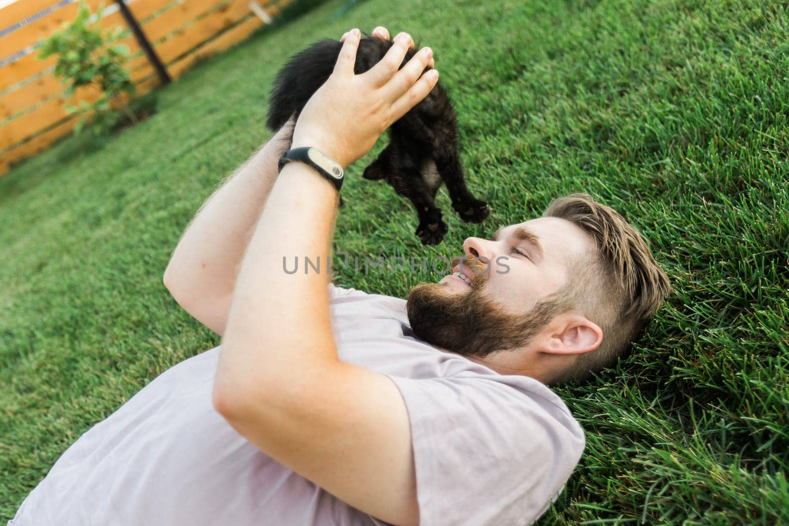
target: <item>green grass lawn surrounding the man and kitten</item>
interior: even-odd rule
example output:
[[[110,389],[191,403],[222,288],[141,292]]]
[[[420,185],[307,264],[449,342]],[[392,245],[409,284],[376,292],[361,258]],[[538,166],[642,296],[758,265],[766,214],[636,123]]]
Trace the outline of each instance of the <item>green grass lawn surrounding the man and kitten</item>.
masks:
[[[449,215],[444,244],[424,248],[409,204],[358,162],[338,248],[454,255],[582,191],[645,233],[675,288],[633,356],[559,390],[587,448],[544,524],[789,521],[786,6],[369,0],[333,18],[344,4],[200,65],[136,128],[66,140],[0,179],[0,517],[92,424],[218,343],[161,283],[181,230],[269,136],[286,57],[381,23],[436,50],[492,215]],[[436,275],[337,281],[402,297],[421,279]]]

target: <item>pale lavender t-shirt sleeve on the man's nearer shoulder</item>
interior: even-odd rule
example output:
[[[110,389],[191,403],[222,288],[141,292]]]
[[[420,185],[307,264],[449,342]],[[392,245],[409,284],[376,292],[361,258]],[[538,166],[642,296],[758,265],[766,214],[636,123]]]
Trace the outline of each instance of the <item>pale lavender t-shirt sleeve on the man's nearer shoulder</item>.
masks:
[[[408,409],[422,526],[529,524],[578,464],[581,427],[529,390],[535,380],[391,379]]]

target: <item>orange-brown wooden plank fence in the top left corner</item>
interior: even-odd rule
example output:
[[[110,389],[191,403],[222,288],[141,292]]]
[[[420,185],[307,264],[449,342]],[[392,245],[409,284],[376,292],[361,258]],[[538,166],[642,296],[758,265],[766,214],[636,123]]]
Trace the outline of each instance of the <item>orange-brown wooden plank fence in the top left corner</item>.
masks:
[[[125,0],[172,79],[200,59],[219,53],[271,21],[293,0]],[[112,0],[87,0],[92,11],[106,6],[103,28],[127,27]],[[41,41],[77,16],[77,0],[18,0],[0,9],[0,175],[13,163],[44,150],[73,131],[79,118],[65,110],[99,94],[84,88],[65,100],[52,69],[55,58],[37,58]],[[134,35],[122,43],[131,54],[126,68],[137,95],[159,84],[154,65]]]

